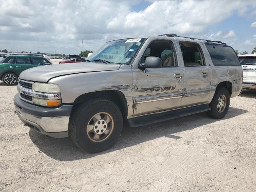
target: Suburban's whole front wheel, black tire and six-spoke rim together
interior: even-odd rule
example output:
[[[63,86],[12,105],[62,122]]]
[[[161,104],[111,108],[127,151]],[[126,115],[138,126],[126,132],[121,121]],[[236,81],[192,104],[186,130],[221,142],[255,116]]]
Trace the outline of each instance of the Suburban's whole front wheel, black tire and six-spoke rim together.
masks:
[[[70,118],[70,137],[84,151],[107,150],[118,140],[123,126],[118,106],[105,99],[81,104]]]

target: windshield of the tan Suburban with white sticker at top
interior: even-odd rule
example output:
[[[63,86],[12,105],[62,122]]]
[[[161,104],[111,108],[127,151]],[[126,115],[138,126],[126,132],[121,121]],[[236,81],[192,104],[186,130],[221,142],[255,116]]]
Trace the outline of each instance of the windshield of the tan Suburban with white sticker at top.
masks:
[[[90,62],[104,62],[129,65],[143,42],[144,38],[121,39],[106,42],[101,48],[93,52],[87,60]]]

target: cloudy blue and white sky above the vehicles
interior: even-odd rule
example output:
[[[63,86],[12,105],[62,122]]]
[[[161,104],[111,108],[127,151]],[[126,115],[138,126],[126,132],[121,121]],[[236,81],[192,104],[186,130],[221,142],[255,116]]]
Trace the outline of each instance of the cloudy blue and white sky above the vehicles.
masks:
[[[0,0],[0,50],[79,54],[116,38],[175,33],[256,47],[256,0]]]

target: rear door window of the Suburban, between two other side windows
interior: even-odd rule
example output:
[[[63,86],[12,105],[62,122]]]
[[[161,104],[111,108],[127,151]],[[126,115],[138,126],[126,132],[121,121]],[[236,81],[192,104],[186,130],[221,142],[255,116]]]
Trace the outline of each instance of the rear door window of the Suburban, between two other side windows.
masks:
[[[184,66],[205,66],[200,46],[192,42],[180,42]]]

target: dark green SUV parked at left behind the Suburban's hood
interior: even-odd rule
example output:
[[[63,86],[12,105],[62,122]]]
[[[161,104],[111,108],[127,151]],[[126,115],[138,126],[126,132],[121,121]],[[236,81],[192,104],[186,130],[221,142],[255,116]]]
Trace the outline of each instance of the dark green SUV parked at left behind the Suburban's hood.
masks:
[[[16,85],[22,71],[42,65],[52,65],[52,63],[40,56],[10,55],[0,63],[0,79],[5,85]]]

